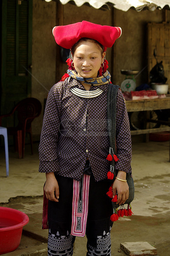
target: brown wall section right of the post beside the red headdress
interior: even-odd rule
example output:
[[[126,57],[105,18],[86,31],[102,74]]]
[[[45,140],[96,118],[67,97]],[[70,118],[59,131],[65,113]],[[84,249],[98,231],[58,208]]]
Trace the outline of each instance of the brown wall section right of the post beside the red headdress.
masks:
[[[166,21],[170,21],[170,10],[167,10]],[[165,20],[164,10],[143,10],[136,12],[129,9],[127,12],[114,9],[114,26],[122,28],[122,36],[114,46],[113,80],[120,85],[125,76],[121,69],[144,71],[137,76],[136,84],[148,83],[148,38],[147,24],[149,22],[162,23]],[[150,68],[150,67],[149,67]]]

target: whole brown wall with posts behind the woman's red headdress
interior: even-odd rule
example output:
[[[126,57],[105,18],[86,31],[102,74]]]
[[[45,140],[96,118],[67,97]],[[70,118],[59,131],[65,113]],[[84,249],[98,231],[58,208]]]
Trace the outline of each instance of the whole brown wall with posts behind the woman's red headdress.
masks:
[[[109,61],[109,72],[112,82],[120,85],[125,76],[120,69],[142,70],[147,66],[147,24],[149,22],[162,23],[170,21],[170,11],[164,15],[163,10],[137,12],[129,9],[127,12],[118,9],[94,9],[83,5],[77,7],[71,3],[61,5],[59,2],[49,3],[33,0],[33,75],[50,90],[52,85],[61,79],[66,72],[67,65],[61,61],[60,47],[55,43],[52,28],[56,25],[66,25],[82,20],[101,25],[120,26],[122,36],[116,40],[112,49],[106,52]],[[148,82],[147,67],[137,76],[137,86]],[[32,97],[37,97],[43,105],[47,91],[32,78]],[[34,121],[33,134],[40,134],[43,113]],[[36,137],[36,136],[35,136]]]

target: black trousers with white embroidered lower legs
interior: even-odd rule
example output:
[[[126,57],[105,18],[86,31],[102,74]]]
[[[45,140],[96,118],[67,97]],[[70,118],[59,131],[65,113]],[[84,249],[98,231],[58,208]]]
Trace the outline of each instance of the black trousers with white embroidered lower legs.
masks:
[[[71,256],[75,236],[71,235],[73,179],[55,175],[59,184],[59,202],[48,205],[48,256]],[[86,225],[87,256],[111,256],[111,198],[106,192],[111,181],[96,182],[90,175],[89,206]]]

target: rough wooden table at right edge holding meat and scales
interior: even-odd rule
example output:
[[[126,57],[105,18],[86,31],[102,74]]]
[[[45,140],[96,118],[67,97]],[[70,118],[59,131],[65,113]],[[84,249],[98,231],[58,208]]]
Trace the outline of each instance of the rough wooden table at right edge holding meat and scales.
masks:
[[[164,99],[155,99],[155,100],[126,100],[127,112],[135,111],[146,111],[146,129],[142,130],[131,130],[131,135],[146,134],[146,141],[149,140],[149,133],[156,132],[170,132],[170,122],[158,121],[160,124],[167,125],[166,127],[161,128],[149,128],[149,122],[156,123],[149,119],[149,111],[158,110],[158,109],[170,109],[170,97]]]

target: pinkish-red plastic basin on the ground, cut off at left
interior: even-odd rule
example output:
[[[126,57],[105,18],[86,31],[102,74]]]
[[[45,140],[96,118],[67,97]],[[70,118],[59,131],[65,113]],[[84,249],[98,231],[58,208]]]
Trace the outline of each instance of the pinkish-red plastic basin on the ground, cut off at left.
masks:
[[[17,249],[22,229],[28,222],[28,216],[22,211],[0,207],[0,255]]]

